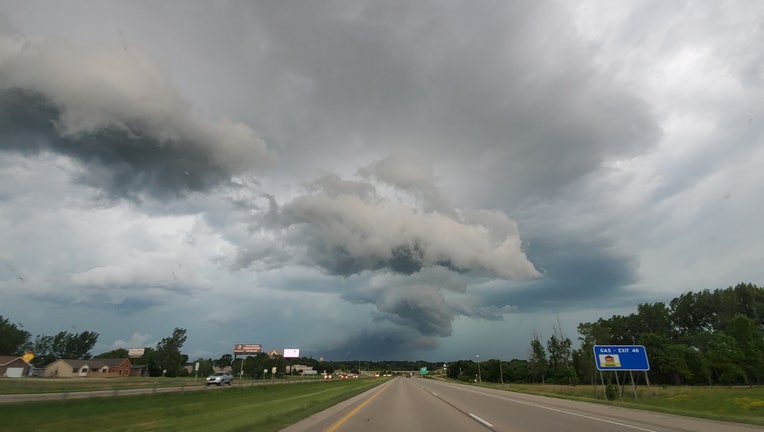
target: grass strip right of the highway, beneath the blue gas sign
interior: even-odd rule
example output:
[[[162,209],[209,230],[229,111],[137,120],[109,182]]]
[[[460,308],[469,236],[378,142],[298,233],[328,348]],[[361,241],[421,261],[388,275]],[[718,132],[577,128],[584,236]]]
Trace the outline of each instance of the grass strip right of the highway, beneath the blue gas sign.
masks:
[[[602,386],[549,385],[549,384],[489,384],[492,387],[520,393],[575,399],[607,405],[622,406],[764,426],[764,387],[723,386],[638,386],[634,398],[633,387],[623,388],[623,399],[609,401]]]

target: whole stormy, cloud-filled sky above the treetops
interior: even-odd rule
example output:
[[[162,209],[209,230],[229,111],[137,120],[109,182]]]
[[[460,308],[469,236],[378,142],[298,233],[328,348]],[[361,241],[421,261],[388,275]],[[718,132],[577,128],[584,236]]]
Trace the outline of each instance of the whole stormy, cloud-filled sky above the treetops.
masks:
[[[764,3],[0,0],[0,315],[527,358],[764,283]]]

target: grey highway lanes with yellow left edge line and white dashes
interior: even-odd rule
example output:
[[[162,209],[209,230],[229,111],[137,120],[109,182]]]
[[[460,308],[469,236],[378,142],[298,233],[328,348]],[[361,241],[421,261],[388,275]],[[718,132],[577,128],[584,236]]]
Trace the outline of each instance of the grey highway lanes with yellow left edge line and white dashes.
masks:
[[[395,378],[283,432],[762,432],[764,428]]]

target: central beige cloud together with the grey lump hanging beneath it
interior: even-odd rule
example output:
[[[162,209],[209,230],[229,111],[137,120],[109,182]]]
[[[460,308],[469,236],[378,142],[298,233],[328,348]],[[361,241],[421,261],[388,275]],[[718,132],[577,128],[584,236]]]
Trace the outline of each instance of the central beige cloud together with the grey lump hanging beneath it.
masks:
[[[506,312],[480,305],[466,278],[540,276],[513,220],[499,210],[445,207],[427,164],[396,155],[358,173],[326,174],[283,206],[266,197],[268,210],[255,218],[258,229],[234,267],[300,264],[369,277],[338,288],[341,298],[373,305],[374,320],[425,339],[451,335],[459,316],[496,320]]]

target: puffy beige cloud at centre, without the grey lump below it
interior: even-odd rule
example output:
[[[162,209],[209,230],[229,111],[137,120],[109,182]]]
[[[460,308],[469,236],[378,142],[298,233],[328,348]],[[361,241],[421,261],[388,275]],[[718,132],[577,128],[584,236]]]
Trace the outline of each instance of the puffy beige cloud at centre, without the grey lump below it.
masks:
[[[284,205],[279,220],[288,243],[301,245],[308,262],[331,274],[379,269],[412,274],[444,266],[507,279],[539,276],[522,250],[517,224],[501,211],[427,211],[386,196],[370,182],[333,175],[313,188]]]

